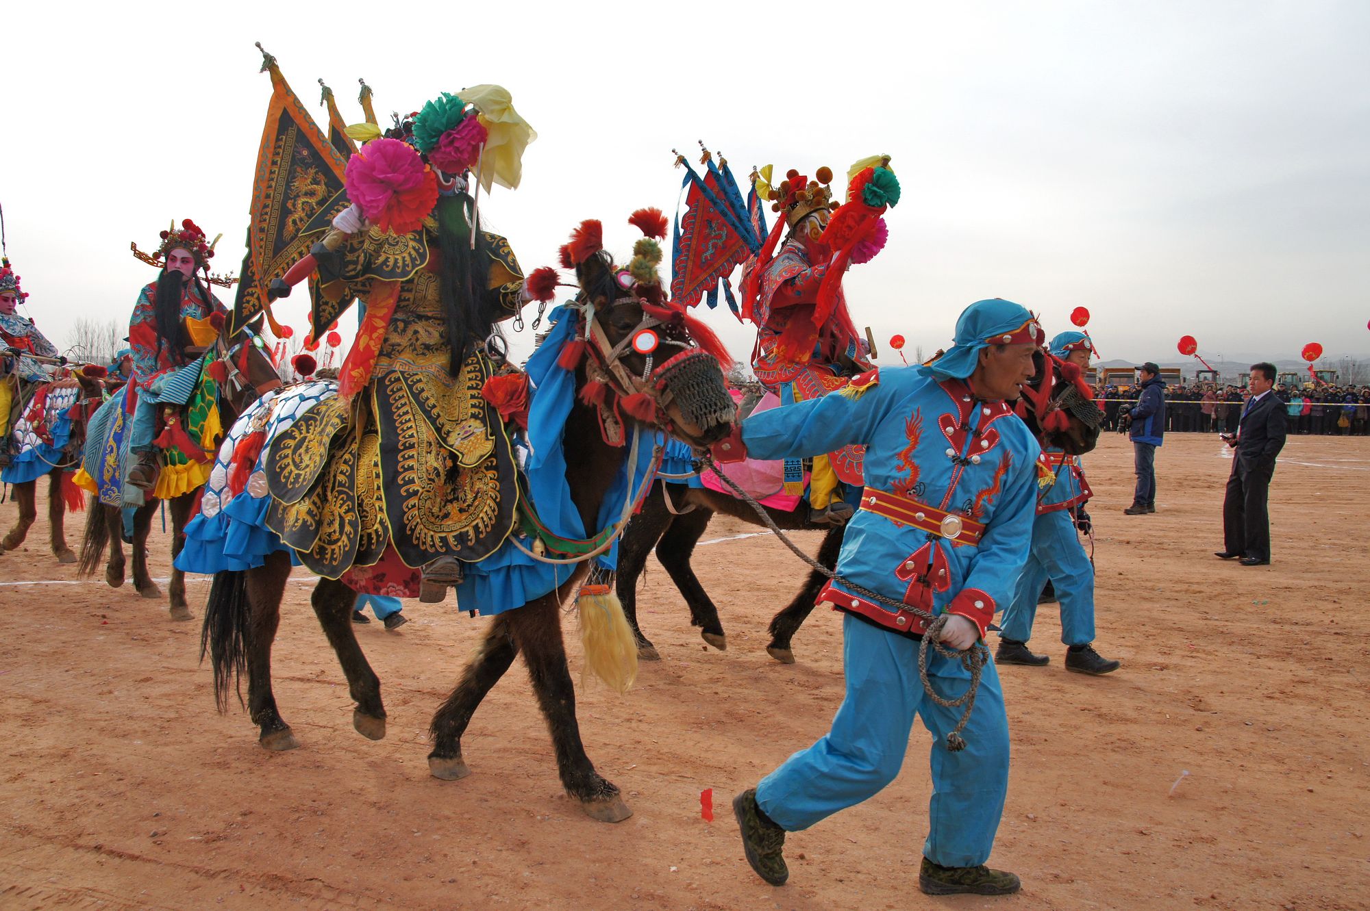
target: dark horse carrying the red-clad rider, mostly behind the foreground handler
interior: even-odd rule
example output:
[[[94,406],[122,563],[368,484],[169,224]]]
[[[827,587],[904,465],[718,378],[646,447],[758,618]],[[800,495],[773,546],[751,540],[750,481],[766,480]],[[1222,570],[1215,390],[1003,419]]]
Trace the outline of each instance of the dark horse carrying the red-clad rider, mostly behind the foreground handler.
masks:
[[[1062,364],[1059,358],[1038,353],[1037,376],[1032,380],[1032,390],[1023,395],[1018,409],[1019,416],[1037,436],[1043,446],[1055,446],[1071,456],[1081,456],[1091,451],[1099,440],[1099,425],[1103,413],[1097,406],[1071,383],[1062,378]],[[1045,394],[1041,395],[1043,383],[1048,378],[1047,368],[1051,368],[1051,382],[1045,384]],[[1069,369],[1069,368],[1067,368]],[[1037,393],[1036,395],[1033,393]],[[1059,430],[1044,431],[1038,420],[1037,410],[1043,414],[1058,412],[1064,416],[1051,420],[1052,427]],[[1064,425],[1062,427],[1062,423]],[[666,488],[664,491],[662,488]],[[669,498],[669,502],[667,502]],[[708,592],[700,584],[695,569],[690,565],[690,555],[695,546],[704,535],[710,520],[715,513],[723,513],[733,518],[740,518],[748,524],[764,528],[756,510],[748,503],[719,494],[707,488],[686,487],[682,483],[658,480],[643,509],[629,523],[619,544],[619,564],[615,584],[619,600],[623,602],[623,613],[629,625],[637,636],[638,655],[648,661],[659,658],[656,647],[643,635],[637,622],[637,580],[647,566],[647,558],[656,550],[656,558],[680,590],[681,596],[689,606],[690,625],[700,628],[704,642],[718,650],[727,647],[723,633],[723,624],[718,618],[718,607],[710,599]],[[818,531],[826,527],[812,524],[807,520],[807,510],[800,507],[793,513],[766,507],[777,527],[782,531]],[[837,566],[837,555],[841,553],[843,535],[845,527],[827,529],[822,543],[818,546],[815,559],[827,569]],[[808,572],[803,588],[795,595],[780,613],[770,621],[770,643],[766,652],[775,661],[786,665],[795,663],[795,651],[790,640],[810,611],[819,590],[827,581],[817,569]]]

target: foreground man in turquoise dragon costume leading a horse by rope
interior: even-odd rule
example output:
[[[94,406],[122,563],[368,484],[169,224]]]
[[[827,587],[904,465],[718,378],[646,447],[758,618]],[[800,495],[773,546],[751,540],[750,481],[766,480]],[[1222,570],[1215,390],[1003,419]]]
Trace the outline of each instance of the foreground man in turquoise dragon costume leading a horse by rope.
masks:
[[[932,802],[919,886],[932,895],[1017,892],[1018,877],[985,864],[1008,787],[1008,721],[995,665],[971,711],[934,702],[919,680],[919,639],[980,648],[1028,557],[1038,487],[1036,438],[1012,399],[1036,373],[1037,320],[1004,300],[971,304],[956,341],[921,367],[870,371],[834,395],[744,420],[715,458],[789,458],[866,446],[866,487],[851,518],[837,579],[819,594],[844,613],[847,692],[832,730],[733,800],[752,869],[788,874],[785,833],[858,804],[895,780],[914,717],[933,735]],[[886,606],[875,594],[900,605]],[[945,616],[945,620],[943,620]],[[930,646],[930,643],[929,643]],[[966,694],[959,657],[927,650],[930,687]],[[956,736],[964,725],[963,740]],[[903,843],[904,833],[892,833]]]

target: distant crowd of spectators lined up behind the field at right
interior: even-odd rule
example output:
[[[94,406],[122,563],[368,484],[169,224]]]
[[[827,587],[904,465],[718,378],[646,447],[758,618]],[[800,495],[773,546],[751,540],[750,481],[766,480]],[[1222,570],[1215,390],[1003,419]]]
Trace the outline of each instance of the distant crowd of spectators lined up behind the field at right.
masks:
[[[1341,436],[1370,435],[1370,386],[1303,386],[1281,384],[1275,394],[1289,410],[1289,434],[1325,434]],[[1128,410],[1137,402],[1136,386],[1097,386],[1104,399],[1104,428],[1128,430]],[[1234,434],[1237,419],[1249,393],[1237,386],[1214,383],[1175,383],[1166,387],[1167,434]]]

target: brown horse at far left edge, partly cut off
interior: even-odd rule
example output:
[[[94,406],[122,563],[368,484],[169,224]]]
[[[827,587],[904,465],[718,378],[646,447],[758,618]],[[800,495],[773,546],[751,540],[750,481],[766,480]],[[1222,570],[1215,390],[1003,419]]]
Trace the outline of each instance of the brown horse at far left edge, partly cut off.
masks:
[[[51,390],[59,383],[75,383],[79,390],[77,401],[67,410],[71,419],[71,434],[66,446],[62,447],[60,456],[49,460],[42,453],[36,453],[51,466],[44,472],[48,477],[48,542],[52,546],[52,555],[58,558],[59,564],[77,562],[77,555],[67,547],[64,518],[68,497],[73,498],[70,501],[73,509],[84,509],[85,494],[71,484],[70,473],[81,466],[81,446],[85,442],[86,421],[104,401],[103,371],[103,367],[73,369],[68,378],[49,384]],[[3,550],[18,550],[29,536],[29,528],[38,518],[38,479],[14,483],[11,491],[14,502],[19,505],[19,516],[15,518],[14,528],[0,542]]]

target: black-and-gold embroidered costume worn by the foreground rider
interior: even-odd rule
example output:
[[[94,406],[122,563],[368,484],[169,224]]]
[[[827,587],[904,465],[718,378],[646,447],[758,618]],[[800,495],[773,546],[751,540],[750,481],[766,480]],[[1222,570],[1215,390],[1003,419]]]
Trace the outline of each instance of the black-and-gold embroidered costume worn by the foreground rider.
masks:
[[[408,568],[438,557],[482,559],[514,525],[511,443],[481,397],[496,365],[477,343],[459,375],[448,372],[434,228],[432,217],[403,235],[367,228],[319,260],[315,332],[353,298],[367,313],[342,367],[344,394],[269,443],[266,524],[329,579],[353,566],[403,573],[395,557]],[[496,319],[515,316],[525,301],[514,252],[497,234],[482,231],[482,241],[473,253],[490,260],[481,304]]]

